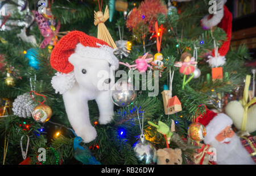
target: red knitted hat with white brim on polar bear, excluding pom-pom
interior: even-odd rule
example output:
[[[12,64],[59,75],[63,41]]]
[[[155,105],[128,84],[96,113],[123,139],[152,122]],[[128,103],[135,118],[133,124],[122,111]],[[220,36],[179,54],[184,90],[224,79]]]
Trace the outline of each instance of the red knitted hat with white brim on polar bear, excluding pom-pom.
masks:
[[[118,69],[118,59],[105,41],[86,35],[81,31],[71,31],[55,45],[51,53],[51,66],[57,72],[69,73],[73,65],[68,58],[77,53],[82,57],[107,60],[114,69]]]

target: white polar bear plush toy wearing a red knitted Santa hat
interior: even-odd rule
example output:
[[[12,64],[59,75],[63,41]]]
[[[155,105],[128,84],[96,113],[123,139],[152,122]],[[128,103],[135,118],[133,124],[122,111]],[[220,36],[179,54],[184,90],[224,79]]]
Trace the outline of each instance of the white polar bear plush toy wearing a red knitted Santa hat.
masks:
[[[89,119],[88,100],[95,99],[100,111],[100,124],[107,124],[114,115],[110,87],[118,59],[105,41],[72,31],[62,37],[51,54],[52,77],[56,93],[63,94],[69,122],[85,143],[96,139],[97,132]],[[107,88],[107,89],[106,89]]]

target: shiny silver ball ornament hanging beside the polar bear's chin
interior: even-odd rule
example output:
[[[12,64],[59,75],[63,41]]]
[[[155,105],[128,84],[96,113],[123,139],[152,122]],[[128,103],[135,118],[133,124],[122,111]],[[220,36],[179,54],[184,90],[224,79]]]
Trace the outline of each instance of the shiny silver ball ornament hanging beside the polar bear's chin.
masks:
[[[117,82],[114,85],[114,90],[111,92],[111,98],[115,105],[125,107],[133,104],[137,97],[137,91],[133,85],[126,81]]]

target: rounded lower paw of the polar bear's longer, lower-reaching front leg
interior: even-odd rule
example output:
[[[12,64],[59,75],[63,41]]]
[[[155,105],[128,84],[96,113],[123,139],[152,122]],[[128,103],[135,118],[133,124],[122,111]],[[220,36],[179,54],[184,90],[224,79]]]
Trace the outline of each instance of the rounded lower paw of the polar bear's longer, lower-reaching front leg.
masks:
[[[89,143],[90,141],[93,141],[97,137],[96,129],[92,126],[83,127],[77,132],[77,136],[82,137],[82,140],[84,140],[84,143]]]

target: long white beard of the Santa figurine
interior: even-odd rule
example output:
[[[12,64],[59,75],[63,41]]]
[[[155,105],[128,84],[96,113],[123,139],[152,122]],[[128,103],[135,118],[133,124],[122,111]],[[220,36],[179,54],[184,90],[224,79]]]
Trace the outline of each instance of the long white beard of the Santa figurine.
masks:
[[[216,149],[215,161],[218,165],[253,165],[254,161],[250,154],[241,144],[240,138],[234,134],[230,143],[220,143],[214,139],[210,144]]]

